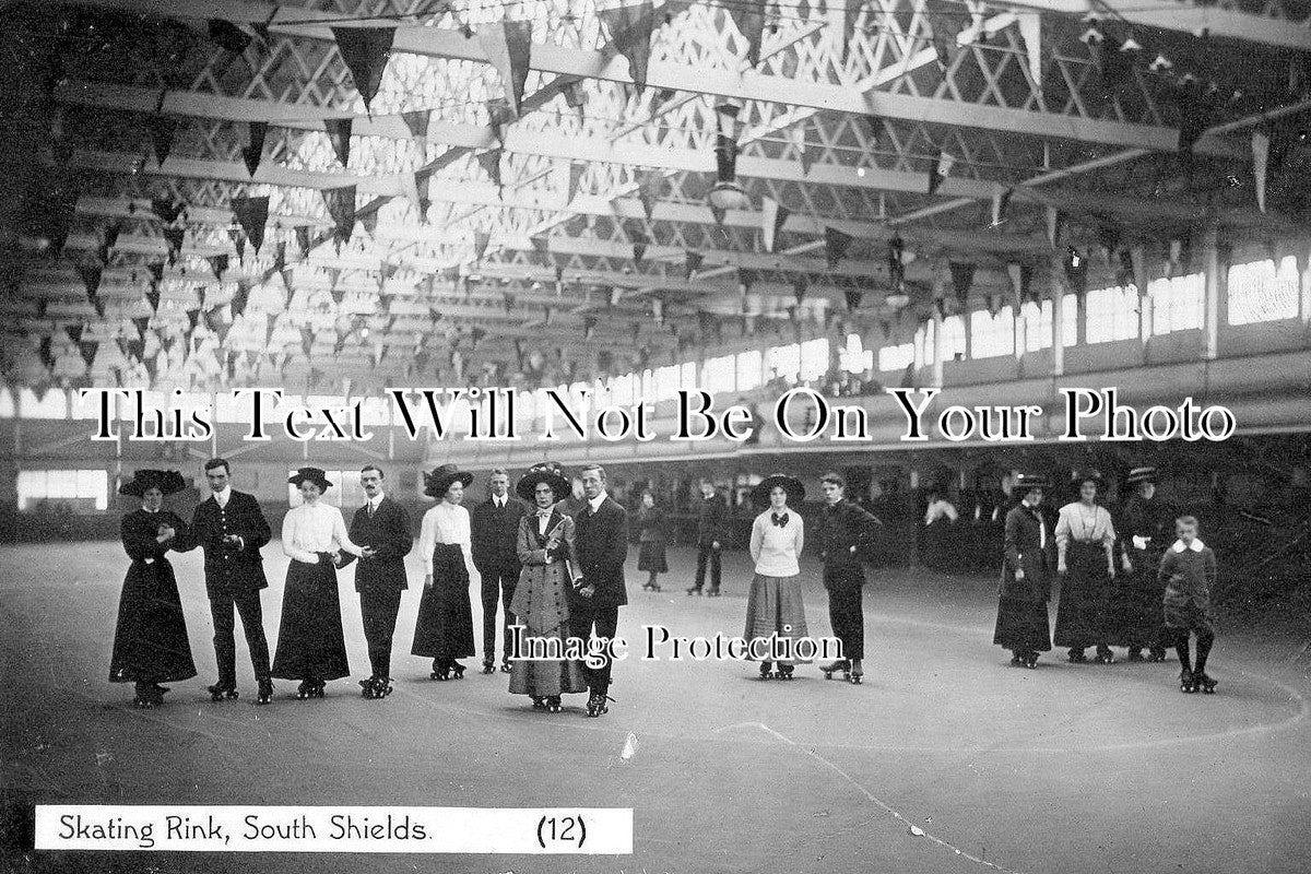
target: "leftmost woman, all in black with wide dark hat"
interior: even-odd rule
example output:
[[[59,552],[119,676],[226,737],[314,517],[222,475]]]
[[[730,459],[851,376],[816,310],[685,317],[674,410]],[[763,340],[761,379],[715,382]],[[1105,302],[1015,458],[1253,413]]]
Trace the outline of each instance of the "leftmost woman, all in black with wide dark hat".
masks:
[[[135,683],[139,708],[164,701],[176,683],[195,676],[186,618],[177,594],[177,579],[168,552],[186,541],[186,523],[164,510],[164,497],[186,489],[176,470],[138,470],[118,493],[142,499],[142,508],[123,516],[123,549],[132,560],[118,599],[114,653],[109,662],[110,683]],[[187,546],[190,548],[190,546]]]

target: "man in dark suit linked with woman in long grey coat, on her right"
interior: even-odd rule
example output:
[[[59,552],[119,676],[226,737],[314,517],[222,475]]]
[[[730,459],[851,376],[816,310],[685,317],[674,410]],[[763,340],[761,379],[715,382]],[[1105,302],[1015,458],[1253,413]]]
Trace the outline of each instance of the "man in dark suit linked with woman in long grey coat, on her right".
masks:
[[[628,603],[624,587],[624,560],[628,558],[628,514],[606,494],[606,472],[599,465],[582,469],[586,506],[574,519],[576,544],[581,577],[574,580],[569,598],[569,628],[574,637],[586,641],[593,628],[603,641],[615,639],[619,608]],[[607,647],[608,650],[608,647]],[[614,667],[606,653],[604,664],[587,671],[587,715],[608,713],[606,701]]]

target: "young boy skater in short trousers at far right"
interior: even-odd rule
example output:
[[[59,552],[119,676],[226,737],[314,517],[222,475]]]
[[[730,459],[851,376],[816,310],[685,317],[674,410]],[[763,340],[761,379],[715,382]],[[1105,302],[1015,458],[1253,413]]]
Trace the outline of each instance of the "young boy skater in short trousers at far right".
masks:
[[[1215,680],[1206,676],[1206,656],[1215,642],[1211,628],[1211,586],[1215,584],[1215,553],[1197,539],[1197,519],[1175,520],[1179,540],[1165,550],[1156,573],[1165,584],[1165,630],[1171,646],[1179,650],[1179,688],[1184,692],[1215,692]],[[1197,659],[1188,658],[1188,637],[1197,634]]]

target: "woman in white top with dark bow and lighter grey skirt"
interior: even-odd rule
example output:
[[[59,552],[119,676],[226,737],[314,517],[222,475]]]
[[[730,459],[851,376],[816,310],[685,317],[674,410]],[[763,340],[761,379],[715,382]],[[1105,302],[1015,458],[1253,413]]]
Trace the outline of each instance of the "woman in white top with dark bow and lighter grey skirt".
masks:
[[[760,659],[760,679],[777,676],[791,680],[797,662],[792,646],[806,637],[806,608],[801,600],[801,566],[797,561],[805,545],[805,523],[797,507],[806,491],[801,481],[785,474],[766,477],[753,491],[756,504],[770,508],[751,524],[751,560],[755,578],[746,601],[746,638]],[[756,642],[760,641],[760,642]],[[775,649],[775,641],[779,647]],[[777,660],[773,656],[777,655]],[[777,666],[777,670],[771,670]]]

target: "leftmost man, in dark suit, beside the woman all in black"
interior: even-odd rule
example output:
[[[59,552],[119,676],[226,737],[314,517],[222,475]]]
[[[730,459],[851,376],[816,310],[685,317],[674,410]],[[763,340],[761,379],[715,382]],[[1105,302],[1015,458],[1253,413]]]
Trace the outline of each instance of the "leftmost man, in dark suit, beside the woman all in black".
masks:
[[[254,495],[235,491],[232,468],[224,459],[205,463],[205,477],[212,493],[195,508],[187,542],[205,550],[205,590],[214,617],[214,655],[219,681],[210,687],[215,701],[237,697],[236,620],[241,615],[250,663],[260,685],[257,704],[273,700],[269,670],[269,642],[264,637],[264,609],[260,591],[267,588],[260,549],[269,542],[269,522]]]

